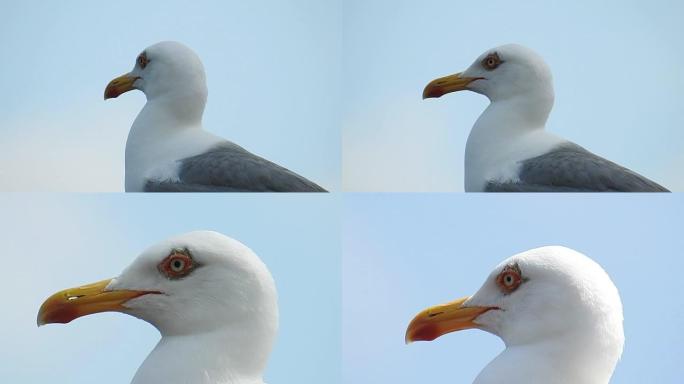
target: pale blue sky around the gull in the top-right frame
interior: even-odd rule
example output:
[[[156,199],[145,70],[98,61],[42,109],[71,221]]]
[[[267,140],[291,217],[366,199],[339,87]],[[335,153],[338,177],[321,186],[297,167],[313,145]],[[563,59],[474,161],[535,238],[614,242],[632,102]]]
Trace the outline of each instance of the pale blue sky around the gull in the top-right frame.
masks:
[[[488,100],[421,100],[432,79],[520,43],[551,66],[548,129],[684,190],[684,2],[345,0],[343,188],[463,191]]]

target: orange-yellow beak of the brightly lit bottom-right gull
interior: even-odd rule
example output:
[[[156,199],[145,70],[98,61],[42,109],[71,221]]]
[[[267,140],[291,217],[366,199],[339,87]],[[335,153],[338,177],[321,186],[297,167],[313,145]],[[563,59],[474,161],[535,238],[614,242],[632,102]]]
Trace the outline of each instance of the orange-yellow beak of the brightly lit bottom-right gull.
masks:
[[[464,307],[468,297],[421,311],[406,329],[406,344],[414,341],[432,341],[450,332],[477,328],[475,319],[496,307]]]

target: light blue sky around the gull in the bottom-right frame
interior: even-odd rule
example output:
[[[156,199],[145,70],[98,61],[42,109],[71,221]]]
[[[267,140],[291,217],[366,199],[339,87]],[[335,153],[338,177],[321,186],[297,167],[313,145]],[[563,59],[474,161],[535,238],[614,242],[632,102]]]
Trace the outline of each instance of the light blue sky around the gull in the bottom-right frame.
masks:
[[[502,349],[468,330],[404,344],[420,310],[465,295],[503,259],[574,248],[618,287],[625,350],[612,383],[681,383],[682,195],[348,195],[343,238],[343,380],[471,383]]]

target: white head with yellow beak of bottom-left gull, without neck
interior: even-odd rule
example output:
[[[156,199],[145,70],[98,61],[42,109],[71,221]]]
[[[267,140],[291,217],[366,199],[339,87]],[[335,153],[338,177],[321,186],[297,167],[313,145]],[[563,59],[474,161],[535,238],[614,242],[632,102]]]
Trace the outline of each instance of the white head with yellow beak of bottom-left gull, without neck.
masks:
[[[211,231],[172,237],[116,278],[55,293],[41,306],[38,325],[106,311],[145,320],[163,336],[234,328],[273,339],[278,324],[275,283],[264,263]]]

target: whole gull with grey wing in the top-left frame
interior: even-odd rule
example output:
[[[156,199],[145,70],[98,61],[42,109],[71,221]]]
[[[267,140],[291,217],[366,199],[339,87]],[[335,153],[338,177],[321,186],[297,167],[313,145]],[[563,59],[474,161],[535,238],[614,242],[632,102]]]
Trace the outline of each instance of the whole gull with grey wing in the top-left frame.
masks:
[[[140,53],[133,70],[112,80],[105,100],[133,89],[147,103],[126,142],[127,192],[325,192],[302,176],[205,131],[202,62],[165,41]]]

